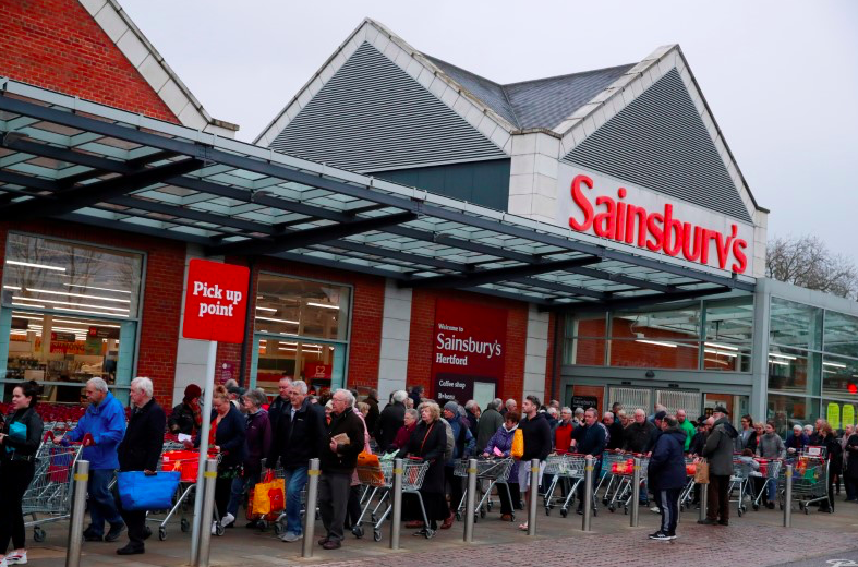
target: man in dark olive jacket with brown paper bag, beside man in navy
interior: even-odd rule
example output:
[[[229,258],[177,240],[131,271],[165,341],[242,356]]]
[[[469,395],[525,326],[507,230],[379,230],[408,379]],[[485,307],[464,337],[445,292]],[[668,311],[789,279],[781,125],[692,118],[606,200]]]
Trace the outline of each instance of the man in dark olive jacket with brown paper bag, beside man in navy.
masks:
[[[703,457],[709,459],[709,506],[706,518],[698,523],[729,526],[729,478],[733,474],[733,447],[739,432],[729,422],[729,412],[716,406],[712,412],[715,423],[703,446]]]

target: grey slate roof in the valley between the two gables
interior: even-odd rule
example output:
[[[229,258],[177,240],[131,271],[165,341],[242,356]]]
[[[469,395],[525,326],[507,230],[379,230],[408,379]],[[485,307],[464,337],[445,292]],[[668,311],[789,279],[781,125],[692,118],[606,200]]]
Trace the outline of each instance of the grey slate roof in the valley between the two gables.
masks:
[[[431,56],[442,71],[519,130],[553,129],[635,63],[500,85]]]

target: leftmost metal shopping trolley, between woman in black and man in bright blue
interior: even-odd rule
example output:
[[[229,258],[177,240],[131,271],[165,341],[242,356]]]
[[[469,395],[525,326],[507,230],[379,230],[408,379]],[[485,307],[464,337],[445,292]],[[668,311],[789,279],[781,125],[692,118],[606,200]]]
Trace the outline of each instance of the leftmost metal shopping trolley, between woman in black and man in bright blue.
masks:
[[[33,539],[45,541],[46,523],[64,520],[71,516],[72,482],[74,465],[84,445],[75,443],[59,445],[48,432],[34,456],[36,472],[22,498],[22,511],[31,521],[24,523],[33,528]],[[41,516],[41,517],[39,517]]]

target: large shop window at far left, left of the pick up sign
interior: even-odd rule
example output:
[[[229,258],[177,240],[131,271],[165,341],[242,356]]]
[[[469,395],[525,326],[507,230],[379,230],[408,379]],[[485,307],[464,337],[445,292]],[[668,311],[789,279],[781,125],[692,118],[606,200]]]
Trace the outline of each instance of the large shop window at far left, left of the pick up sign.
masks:
[[[35,379],[45,399],[80,403],[101,377],[126,399],[134,364],[143,254],[10,233],[3,263],[3,396]]]

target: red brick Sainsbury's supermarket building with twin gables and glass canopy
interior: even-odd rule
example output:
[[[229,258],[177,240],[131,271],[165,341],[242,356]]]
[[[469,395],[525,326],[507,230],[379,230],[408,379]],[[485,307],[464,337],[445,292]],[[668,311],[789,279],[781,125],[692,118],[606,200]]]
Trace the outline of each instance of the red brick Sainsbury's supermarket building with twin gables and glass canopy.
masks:
[[[678,46],[499,85],[367,20],[252,145],[117,2],[44,4],[0,8],[4,390],[181,398],[205,256],[252,274],[220,381],[854,422],[858,305],[762,277],[768,212]]]

